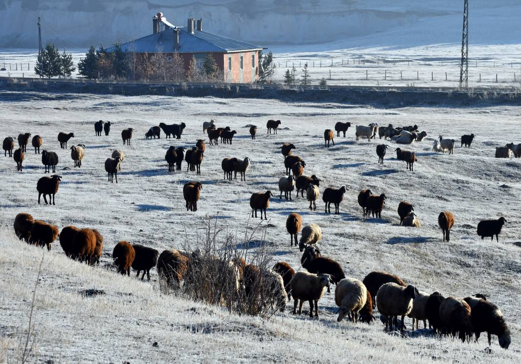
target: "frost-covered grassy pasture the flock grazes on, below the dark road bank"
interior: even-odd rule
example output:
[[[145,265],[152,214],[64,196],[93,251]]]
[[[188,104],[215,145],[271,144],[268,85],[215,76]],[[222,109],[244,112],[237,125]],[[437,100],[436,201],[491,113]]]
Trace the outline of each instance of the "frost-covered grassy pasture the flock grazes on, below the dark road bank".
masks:
[[[12,224],[19,212],[56,224],[91,227],[105,237],[101,267],[85,267],[65,257],[56,243],[44,254],[43,270],[35,299],[35,353],[39,360],[58,362],[216,362],[241,361],[339,362],[519,362],[521,360],[521,159],[495,159],[496,146],[521,143],[520,112],[517,107],[402,108],[378,109],[344,104],[286,104],[269,100],[123,97],[56,95],[0,92],[2,139],[21,132],[39,134],[43,148],[57,152],[57,173],[63,177],[56,206],[38,205],[36,181],[44,175],[41,157],[28,146],[23,172],[16,171],[12,158],[0,157],[0,362],[16,359],[16,350],[27,329],[32,290],[43,250],[18,242]],[[218,126],[237,130],[233,145],[206,146],[201,175],[186,171],[168,172],[164,160],[170,145],[191,147],[206,137],[202,122],[215,119]],[[278,134],[266,134],[268,119],[282,121]],[[113,123],[109,136],[96,137],[97,120]],[[350,121],[346,138],[335,137],[335,146],[324,147],[325,129],[337,121]],[[181,140],[145,140],[144,134],[160,122],[185,122]],[[395,159],[391,142],[355,141],[354,125],[377,122],[395,126],[418,124],[428,136],[406,146],[418,162],[414,172]],[[247,125],[259,128],[252,141]],[[134,128],[131,146],[123,146],[121,130]],[[59,149],[58,132],[74,132],[69,146],[86,145],[81,169],[73,167],[70,150]],[[430,151],[440,134],[459,140],[475,133],[472,148],[454,155]],[[284,175],[283,142],[296,146],[294,154],[306,161],[305,175],[316,174],[325,187],[346,185],[341,214],[324,213],[321,198],[317,210],[293,194],[292,201],[278,198],[278,180]],[[375,146],[391,146],[384,165],[377,164]],[[125,151],[118,184],[107,182],[104,161],[112,150]],[[247,182],[224,181],[220,167],[225,157],[250,157]],[[197,212],[187,212],[182,197],[186,181],[201,181]],[[387,205],[382,219],[362,217],[357,204],[361,189],[385,193]],[[107,268],[110,254],[120,240],[141,243],[158,250],[180,248],[185,239],[195,243],[201,219],[216,216],[218,224],[244,236],[251,220],[249,198],[253,192],[271,190],[267,211],[266,241],[274,262],[300,267],[297,248],[290,248],[285,222],[290,212],[299,212],[304,223],[322,229],[320,249],[340,262],[348,277],[363,279],[373,270],[399,275],[427,293],[466,297],[490,295],[512,330],[510,349],[502,350],[493,337],[492,352],[486,335],[463,344],[452,338],[433,337],[428,330],[411,332],[407,338],[388,335],[377,320],[372,325],[336,322],[334,295],[319,302],[319,320],[293,317],[287,307],[269,320],[237,317],[225,311],[164,296],[153,281],[141,283],[120,277]],[[401,200],[415,205],[423,226],[399,225],[396,208]],[[450,210],[456,218],[450,243],[442,242],[438,228],[440,211]],[[476,225],[481,219],[504,216],[499,243],[481,240]],[[251,230],[250,230],[251,231]],[[260,236],[254,237],[256,249]],[[256,244],[255,244],[256,242]],[[104,269],[107,268],[107,269]],[[98,288],[106,295],[84,298],[79,290]],[[304,305],[307,313],[307,307]],[[157,342],[158,346],[153,347]],[[6,360],[6,359],[5,359]]]

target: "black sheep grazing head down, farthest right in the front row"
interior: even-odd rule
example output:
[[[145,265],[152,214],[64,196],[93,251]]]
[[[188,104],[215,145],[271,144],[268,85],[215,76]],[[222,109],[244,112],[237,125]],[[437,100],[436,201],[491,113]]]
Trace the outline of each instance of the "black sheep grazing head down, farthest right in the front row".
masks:
[[[489,345],[491,344],[491,335],[497,335],[499,345],[503,349],[508,349],[511,342],[511,333],[500,309],[484,299],[466,297],[463,300],[470,306],[470,320],[472,330],[476,335],[476,342],[482,332],[487,332]]]

